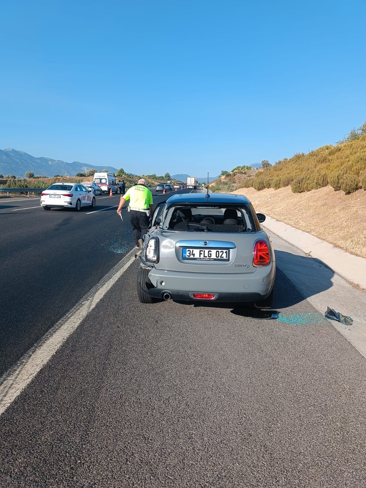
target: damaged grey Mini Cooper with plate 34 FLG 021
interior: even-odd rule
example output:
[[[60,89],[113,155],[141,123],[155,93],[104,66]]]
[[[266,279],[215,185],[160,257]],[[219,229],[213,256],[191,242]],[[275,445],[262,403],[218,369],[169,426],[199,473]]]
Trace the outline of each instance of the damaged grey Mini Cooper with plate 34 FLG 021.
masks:
[[[243,195],[188,193],[158,204],[142,247],[140,302],[271,307],[276,263],[264,219]]]

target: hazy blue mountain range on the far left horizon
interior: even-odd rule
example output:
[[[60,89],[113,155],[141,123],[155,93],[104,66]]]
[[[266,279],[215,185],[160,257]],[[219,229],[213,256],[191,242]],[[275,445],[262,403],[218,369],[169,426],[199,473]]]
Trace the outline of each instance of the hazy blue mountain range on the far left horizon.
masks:
[[[23,151],[17,151],[8,147],[3,151],[0,150],[0,173],[4,176],[12,174],[19,178],[24,178],[26,171],[33,171],[35,175],[43,176],[75,176],[77,173],[83,173],[88,169],[95,168],[97,171],[107,169],[113,173],[117,168],[113,166],[95,166],[94,164],[83,164],[78,161],[65,163],[61,160],[51,158],[35,158]]]

